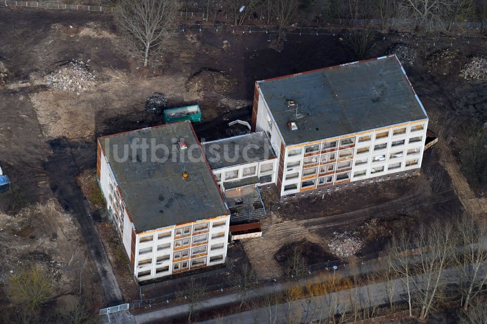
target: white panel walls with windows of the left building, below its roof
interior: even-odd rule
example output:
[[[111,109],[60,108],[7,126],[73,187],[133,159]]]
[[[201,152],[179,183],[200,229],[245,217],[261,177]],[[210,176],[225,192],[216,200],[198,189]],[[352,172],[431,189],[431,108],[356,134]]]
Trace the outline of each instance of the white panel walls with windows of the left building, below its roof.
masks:
[[[143,281],[225,262],[230,216],[218,216],[137,233],[103,150],[97,176],[112,223],[135,280]]]

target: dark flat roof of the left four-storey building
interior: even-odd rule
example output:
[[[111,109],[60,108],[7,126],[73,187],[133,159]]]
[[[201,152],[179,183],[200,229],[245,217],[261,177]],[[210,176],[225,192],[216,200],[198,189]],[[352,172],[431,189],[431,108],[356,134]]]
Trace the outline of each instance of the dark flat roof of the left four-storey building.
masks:
[[[149,148],[144,162],[142,150],[137,150],[137,156],[132,159],[129,149],[127,161],[116,162],[114,145],[118,145],[118,157],[123,157],[120,148],[131,144],[135,138],[139,139],[139,143],[147,139],[148,144],[155,140],[157,145],[166,145],[169,147],[169,159],[166,162],[151,161]],[[180,151],[178,144],[173,144],[173,139],[185,141],[187,149]],[[139,129],[103,137],[99,141],[137,232],[228,215],[225,201],[190,122]],[[159,149],[157,157],[162,158],[163,155],[163,150]],[[187,179],[183,179],[184,171],[188,174]]]

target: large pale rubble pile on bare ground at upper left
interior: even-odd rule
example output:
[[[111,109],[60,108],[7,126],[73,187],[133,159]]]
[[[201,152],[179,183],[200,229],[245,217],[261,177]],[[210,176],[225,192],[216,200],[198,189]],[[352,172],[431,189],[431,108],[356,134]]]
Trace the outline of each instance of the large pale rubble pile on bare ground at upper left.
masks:
[[[59,65],[46,76],[47,85],[63,91],[79,92],[94,86],[95,75],[83,61],[70,60]]]

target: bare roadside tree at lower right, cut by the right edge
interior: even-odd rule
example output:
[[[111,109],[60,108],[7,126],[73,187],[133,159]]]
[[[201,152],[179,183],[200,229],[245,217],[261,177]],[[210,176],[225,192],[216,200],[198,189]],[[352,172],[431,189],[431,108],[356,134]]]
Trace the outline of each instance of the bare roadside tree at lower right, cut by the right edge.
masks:
[[[464,219],[457,224],[459,234],[459,252],[455,261],[460,271],[463,310],[479,293],[484,292],[487,284],[487,224],[476,224],[472,219]]]

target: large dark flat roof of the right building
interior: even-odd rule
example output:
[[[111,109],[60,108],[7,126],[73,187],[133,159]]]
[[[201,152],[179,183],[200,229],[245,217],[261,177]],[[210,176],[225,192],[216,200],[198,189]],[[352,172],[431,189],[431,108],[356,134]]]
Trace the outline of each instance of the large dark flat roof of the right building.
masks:
[[[286,145],[428,118],[395,55],[257,84]]]

